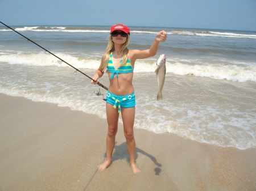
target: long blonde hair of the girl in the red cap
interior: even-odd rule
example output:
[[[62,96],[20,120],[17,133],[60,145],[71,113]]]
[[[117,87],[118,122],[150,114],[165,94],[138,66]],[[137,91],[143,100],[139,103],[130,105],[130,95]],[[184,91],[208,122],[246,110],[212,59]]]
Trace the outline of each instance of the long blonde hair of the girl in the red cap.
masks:
[[[118,67],[125,65],[125,63],[128,60],[129,49],[127,48],[127,46],[129,45],[129,43],[130,43],[130,35],[128,35],[126,37],[126,41],[121,47],[122,62],[119,63]],[[102,66],[102,68],[103,68],[104,72],[108,73],[108,68],[107,67],[108,67],[108,62],[109,62],[109,56],[112,52],[114,52],[114,50],[115,50],[114,43],[112,41],[112,36],[110,35],[109,36],[109,44],[108,44],[108,46],[105,50],[105,53],[102,56],[103,57],[103,66]]]

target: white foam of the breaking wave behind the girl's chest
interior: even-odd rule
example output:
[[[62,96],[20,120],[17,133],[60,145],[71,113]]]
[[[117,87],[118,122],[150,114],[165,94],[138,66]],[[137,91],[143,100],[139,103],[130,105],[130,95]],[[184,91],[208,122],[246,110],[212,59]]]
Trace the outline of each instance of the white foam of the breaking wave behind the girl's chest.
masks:
[[[85,56],[76,57],[71,54],[56,53],[57,57],[60,57],[70,65],[79,69],[93,69],[97,70],[100,66],[101,58]],[[28,66],[59,66],[68,67],[68,65],[58,58],[48,53],[9,53],[0,54],[0,62],[9,64],[21,64]],[[196,77],[207,77],[212,79],[230,80],[237,82],[252,81],[256,82],[256,66],[241,65],[237,66],[236,63],[230,61],[230,65],[221,65],[216,63],[202,63],[197,64],[197,60],[179,60],[171,58],[166,61],[166,72],[176,75],[192,75]],[[232,64],[233,63],[233,64]],[[155,60],[138,60],[135,63],[135,73],[154,73]]]

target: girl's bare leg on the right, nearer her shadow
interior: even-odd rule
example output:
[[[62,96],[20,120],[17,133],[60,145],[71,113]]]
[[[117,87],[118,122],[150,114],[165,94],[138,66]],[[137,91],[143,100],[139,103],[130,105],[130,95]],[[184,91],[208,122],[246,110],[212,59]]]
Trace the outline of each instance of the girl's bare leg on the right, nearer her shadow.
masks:
[[[130,165],[134,173],[141,172],[135,162],[135,139],[133,133],[135,107],[133,108],[121,108],[122,120],[123,120],[123,131],[126,138],[126,147],[130,156]]]

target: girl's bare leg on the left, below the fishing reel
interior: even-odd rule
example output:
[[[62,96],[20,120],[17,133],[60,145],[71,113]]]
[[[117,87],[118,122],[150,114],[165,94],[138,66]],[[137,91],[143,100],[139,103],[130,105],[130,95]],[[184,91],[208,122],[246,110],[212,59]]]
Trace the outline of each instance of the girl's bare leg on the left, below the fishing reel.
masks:
[[[106,137],[106,160],[98,165],[98,169],[103,171],[112,163],[112,155],[115,146],[115,135],[118,129],[118,109],[113,108],[113,105],[106,103],[106,117],[108,121],[108,134]]]

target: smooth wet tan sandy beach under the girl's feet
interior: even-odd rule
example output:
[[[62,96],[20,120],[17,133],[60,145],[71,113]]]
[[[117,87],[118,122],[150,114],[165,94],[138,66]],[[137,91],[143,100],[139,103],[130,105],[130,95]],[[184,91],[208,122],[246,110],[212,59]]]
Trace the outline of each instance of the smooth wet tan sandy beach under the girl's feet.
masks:
[[[256,190],[256,149],[207,145],[135,129],[129,165],[122,124],[103,172],[106,120],[0,94],[0,190]]]

